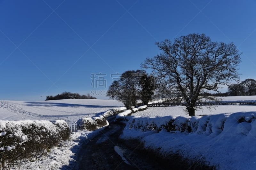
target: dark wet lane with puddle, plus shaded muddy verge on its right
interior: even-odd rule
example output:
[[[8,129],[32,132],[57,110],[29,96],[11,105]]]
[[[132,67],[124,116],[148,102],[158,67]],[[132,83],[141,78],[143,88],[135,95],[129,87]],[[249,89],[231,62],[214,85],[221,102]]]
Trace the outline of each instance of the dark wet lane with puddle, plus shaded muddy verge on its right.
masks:
[[[202,165],[190,167],[178,155],[161,158],[145,150],[138,140],[121,140],[125,125],[111,123],[108,128],[81,146],[75,169],[212,169]]]

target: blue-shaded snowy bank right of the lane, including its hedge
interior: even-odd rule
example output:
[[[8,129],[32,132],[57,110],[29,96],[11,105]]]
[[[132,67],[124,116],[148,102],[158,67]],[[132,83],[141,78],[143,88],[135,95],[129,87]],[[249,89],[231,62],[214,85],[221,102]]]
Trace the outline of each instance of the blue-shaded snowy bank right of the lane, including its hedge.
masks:
[[[140,139],[145,148],[163,156],[184,159],[217,169],[254,169],[256,112],[203,117],[132,116],[121,138]]]

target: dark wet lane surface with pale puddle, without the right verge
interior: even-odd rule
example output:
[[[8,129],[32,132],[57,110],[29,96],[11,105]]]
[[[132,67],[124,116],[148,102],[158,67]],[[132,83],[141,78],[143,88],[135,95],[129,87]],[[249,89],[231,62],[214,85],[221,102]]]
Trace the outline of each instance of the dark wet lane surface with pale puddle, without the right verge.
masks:
[[[76,169],[164,169],[118,138],[124,126],[112,123],[98,136],[82,145],[77,154]],[[142,147],[140,143],[133,145]]]

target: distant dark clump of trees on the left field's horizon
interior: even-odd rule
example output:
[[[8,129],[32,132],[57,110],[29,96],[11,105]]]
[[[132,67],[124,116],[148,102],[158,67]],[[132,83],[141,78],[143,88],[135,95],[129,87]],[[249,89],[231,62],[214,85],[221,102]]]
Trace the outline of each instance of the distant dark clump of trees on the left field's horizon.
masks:
[[[62,100],[62,99],[97,99],[91,96],[89,93],[87,95],[80,95],[78,93],[62,92],[56,96],[46,96],[46,100]]]

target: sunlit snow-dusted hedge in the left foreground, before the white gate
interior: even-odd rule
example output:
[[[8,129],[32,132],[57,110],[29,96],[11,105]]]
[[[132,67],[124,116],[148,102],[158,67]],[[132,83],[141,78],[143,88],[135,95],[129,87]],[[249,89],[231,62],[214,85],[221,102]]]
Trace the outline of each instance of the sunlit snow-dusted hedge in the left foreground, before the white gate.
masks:
[[[69,127],[64,120],[0,120],[0,161],[8,168],[23,159],[35,158],[69,138]],[[1,167],[0,166],[0,167]]]

